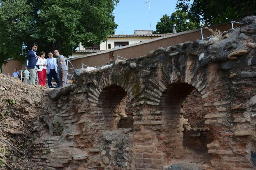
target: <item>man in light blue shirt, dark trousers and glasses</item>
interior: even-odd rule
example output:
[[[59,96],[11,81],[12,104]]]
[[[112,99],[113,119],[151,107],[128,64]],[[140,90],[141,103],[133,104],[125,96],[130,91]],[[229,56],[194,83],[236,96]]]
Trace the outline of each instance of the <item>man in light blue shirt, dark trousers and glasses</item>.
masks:
[[[59,78],[58,78],[58,71],[57,71],[57,63],[56,58],[53,58],[53,53],[51,51],[48,52],[47,62],[47,77],[48,77],[48,85],[49,88],[52,88],[52,78],[54,78],[55,82],[57,83],[58,87],[60,87]]]

